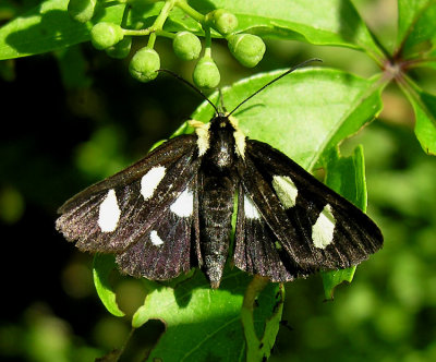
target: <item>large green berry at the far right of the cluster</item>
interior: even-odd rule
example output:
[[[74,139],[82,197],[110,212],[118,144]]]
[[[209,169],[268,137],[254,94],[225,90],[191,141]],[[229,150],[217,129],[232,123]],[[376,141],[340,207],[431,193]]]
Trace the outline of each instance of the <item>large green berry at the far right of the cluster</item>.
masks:
[[[253,34],[233,34],[227,38],[230,52],[244,67],[253,68],[265,53],[265,43]]]

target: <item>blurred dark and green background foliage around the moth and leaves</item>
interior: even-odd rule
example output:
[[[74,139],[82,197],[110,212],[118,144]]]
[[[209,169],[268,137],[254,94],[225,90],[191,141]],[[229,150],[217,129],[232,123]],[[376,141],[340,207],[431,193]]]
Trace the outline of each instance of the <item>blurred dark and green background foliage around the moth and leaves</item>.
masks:
[[[0,1],[0,24],[38,3]],[[358,9],[389,47],[396,1],[359,0]],[[136,43],[135,47],[141,44]],[[190,79],[162,39],[162,68]],[[267,39],[255,70],[240,67],[216,43],[221,85],[254,72],[288,68],[310,57],[325,67],[371,76],[376,69],[349,49]],[[435,93],[436,73],[414,74]],[[290,80],[291,81],[291,80]],[[142,304],[141,281],[119,278],[119,304],[106,312],[94,290],[92,256],[55,230],[66,198],[120,170],[168,137],[202,101],[172,77],[140,84],[128,60],[107,58],[88,44],[50,55],[0,62],[1,361],[92,361],[120,347]],[[342,146],[363,144],[368,214],[386,244],[363,263],[351,286],[324,302],[319,276],[287,285],[283,326],[271,361],[436,361],[436,160],[413,135],[413,112],[396,87],[384,94],[379,119]],[[164,330],[141,328],[125,360],[140,361]]]

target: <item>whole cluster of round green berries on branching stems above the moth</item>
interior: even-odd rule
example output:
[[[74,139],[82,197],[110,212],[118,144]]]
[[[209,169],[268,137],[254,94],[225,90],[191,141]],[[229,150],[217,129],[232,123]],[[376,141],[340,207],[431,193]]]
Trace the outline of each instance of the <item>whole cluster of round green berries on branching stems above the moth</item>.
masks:
[[[106,0],[70,0],[69,13],[77,22],[85,23],[93,19],[98,7],[104,7]],[[156,0],[118,0],[126,2],[125,12],[131,11],[137,1],[158,2]],[[107,2],[107,1],[106,1]],[[204,31],[204,51],[199,38],[190,32],[171,33],[164,31],[164,24],[174,7],[198,22]],[[126,19],[124,14],[124,19]],[[264,41],[253,34],[235,33],[238,19],[231,12],[217,9],[205,15],[187,4],[186,0],[165,0],[159,15],[152,26],[142,29],[130,29],[124,25],[99,22],[90,31],[90,41],[94,47],[105,50],[108,56],[122,59],[129,56],[132,46],[132,36],[148,36],[146,47],[136,51],[132,57],[129,70],[131,75],[141,81],[154,80],[160,69],[160,58],[154,49],[157,36],[172,39],[172,48],[177,57],[182,60],[198,59],[193,81],[201,88],[215,88],[220,82],[217,64],[211,57],[211,29],[228,41],[233,57],[244,67],[253,68],[265,53]]]

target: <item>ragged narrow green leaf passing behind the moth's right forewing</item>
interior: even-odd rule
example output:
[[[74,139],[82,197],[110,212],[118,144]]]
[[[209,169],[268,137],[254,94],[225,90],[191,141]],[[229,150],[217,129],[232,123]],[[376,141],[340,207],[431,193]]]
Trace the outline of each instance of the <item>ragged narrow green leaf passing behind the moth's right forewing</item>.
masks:
[[[367,194],[363,147],[356,147],[350,157],[340,157],[336,149],[332,150],[325,158],[325,168],[327,170],[326,184],[365,212]],[[334,291],[338,285],[343,281],[351,282],[354,273],[355,266],[322,273],[326,299],[334,298]]]

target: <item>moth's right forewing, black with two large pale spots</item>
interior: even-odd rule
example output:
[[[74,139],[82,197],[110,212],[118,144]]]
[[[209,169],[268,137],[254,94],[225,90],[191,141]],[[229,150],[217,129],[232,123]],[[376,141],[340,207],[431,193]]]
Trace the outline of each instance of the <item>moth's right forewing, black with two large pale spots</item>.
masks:
[[[383,236],[365,214],[268,144],[247,140],[238,170],[298,273],[350,267],[382,248]]]

